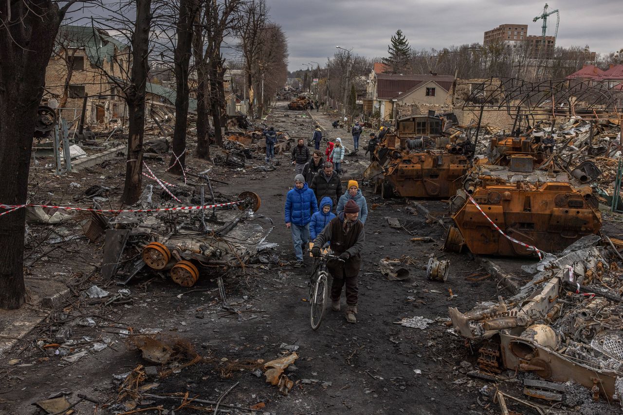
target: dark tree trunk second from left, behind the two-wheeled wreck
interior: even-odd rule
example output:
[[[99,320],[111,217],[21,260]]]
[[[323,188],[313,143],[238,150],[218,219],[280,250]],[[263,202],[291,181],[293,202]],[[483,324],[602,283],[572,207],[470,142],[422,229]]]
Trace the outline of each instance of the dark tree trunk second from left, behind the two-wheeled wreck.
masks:
[[[145,86],[150,46],[151,0],[136,0],[136,24],[132,35],[132,72],[126,94],[128,104],[128,156],[121,202],[132,205],[141,195],[143,134],[145,132]]]

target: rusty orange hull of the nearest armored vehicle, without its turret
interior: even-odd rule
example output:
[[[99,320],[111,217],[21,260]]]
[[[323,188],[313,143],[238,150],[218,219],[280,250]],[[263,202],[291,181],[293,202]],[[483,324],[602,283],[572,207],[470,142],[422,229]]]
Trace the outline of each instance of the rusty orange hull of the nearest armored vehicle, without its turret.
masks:
[[[591,188],[570,183],[566,174],[548,180],[541,171],[521,174],[502,166],[477,170],[450,201],[455,227],[447,233],[446,249],[467,246],[474,254],[536,256],[530,246],[562,251],[601,228]]]

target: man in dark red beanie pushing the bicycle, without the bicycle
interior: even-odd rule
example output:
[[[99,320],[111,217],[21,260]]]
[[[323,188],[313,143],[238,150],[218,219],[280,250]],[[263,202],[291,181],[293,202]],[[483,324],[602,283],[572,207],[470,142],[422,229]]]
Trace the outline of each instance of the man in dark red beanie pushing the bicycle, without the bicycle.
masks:
[[[333,276],[331,284],[331,309],[340,311],[342,287],[346,286],[346,321],[356,323],[358,292],[357,279],[361,268],[361,251],[364,246],[363,222],[359,220],[359,206],[354,200],[346,202],[344,212],[325,226],[313,243],[312,255],[320,256],[320,249],[326,241],[330,248],[344,262],[328,261],[326,268]]]

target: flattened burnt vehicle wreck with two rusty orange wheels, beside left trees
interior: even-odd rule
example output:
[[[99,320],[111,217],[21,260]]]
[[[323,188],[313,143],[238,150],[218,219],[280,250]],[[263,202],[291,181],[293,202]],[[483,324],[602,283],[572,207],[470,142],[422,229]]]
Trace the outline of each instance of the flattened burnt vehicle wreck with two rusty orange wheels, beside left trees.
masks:
[[[201,201],[192,201],[202,200],[203,192]],[[127,284],[155,273],[191,287],[204,274],[244,268],[266,248],[273,228],[272,221],[255,213],[259,207],[257,194],[242,192],[235,202],[120,213],[107,225],[102,274]]]

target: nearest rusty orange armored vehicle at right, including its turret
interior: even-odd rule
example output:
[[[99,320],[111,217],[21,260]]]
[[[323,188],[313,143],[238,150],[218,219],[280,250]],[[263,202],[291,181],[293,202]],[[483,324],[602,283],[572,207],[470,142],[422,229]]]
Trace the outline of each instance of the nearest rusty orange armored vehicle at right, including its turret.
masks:
[[[592,162],[573,171],[559,166],[531,138],[493,138],[450,200],[455,226],[445,248],[500,256],[561,251],[601,228],[586,184],[600,173]]]

